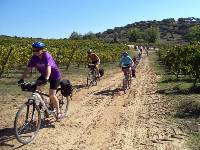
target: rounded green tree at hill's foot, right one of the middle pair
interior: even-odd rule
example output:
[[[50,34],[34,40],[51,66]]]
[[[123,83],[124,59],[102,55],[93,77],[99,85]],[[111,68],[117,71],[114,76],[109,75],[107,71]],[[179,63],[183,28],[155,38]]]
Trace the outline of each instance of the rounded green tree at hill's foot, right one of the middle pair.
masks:
[[[148,43],[155,43],[160,37],[158,27],[150,27],[144,30],[143,39]]]

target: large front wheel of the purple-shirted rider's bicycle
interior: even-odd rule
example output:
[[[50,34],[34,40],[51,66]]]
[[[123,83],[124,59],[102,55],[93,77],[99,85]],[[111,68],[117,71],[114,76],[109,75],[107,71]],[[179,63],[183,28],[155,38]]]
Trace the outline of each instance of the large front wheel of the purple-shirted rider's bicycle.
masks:
[[[30,143],[37,135],[41,125],[41,112],[34,102],[24,103],[18,110],[14,131],[17,140],[22,144]]]

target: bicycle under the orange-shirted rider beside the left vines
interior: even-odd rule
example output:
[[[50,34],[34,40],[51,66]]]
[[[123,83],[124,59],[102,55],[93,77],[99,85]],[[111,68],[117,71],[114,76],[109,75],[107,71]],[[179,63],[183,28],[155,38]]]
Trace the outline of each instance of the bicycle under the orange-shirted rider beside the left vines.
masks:
[[[87,87],[91,85],[97,85],[97,81],[100,81],[100,77],[97,74],[95,64],[88,64],[89,72],[87,75]]]

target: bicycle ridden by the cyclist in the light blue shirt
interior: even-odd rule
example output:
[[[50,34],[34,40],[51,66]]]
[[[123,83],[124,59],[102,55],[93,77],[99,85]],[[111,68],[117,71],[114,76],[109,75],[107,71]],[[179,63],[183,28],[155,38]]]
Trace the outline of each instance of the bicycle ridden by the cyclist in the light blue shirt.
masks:
[[[129,69],[129,68],[128,68]],[[130,70],[125,70],[126,71],[126,74],[124,75],[124,78],[123,78],[123,91],[124,91],[124,94],[126,93],[126,91],[128,89],[130,89],[131,87],[131,76],[132,76],[132,73]]]

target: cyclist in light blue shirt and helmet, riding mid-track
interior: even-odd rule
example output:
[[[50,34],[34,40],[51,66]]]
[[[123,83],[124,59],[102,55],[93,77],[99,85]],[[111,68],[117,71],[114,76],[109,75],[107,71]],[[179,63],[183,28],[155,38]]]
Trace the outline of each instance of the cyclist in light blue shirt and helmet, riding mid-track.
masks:
[[[122,67],[122,71],[124,73],[124,76],[127,75],[127,73],[131,74],[131,69],[132,66],[134,65],[133,60],[131,59],[131,57],[128,55],[127,52],[123,52],[121,54],[121,60],[120,60],[120,66]]]

